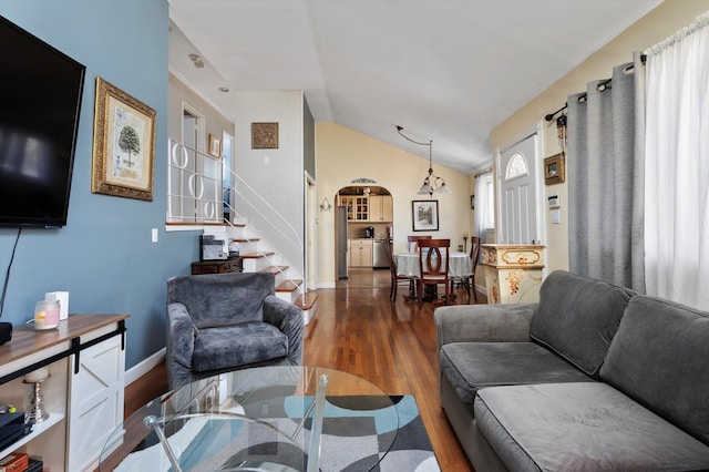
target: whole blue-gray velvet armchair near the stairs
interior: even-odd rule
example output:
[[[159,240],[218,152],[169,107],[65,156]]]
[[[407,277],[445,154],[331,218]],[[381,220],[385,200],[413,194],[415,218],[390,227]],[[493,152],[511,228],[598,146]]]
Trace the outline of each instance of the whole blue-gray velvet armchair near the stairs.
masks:
[[[171,389],[228,370],[300,363],[302,311],[274,295],[274,280],[239,273],[167,280]]]

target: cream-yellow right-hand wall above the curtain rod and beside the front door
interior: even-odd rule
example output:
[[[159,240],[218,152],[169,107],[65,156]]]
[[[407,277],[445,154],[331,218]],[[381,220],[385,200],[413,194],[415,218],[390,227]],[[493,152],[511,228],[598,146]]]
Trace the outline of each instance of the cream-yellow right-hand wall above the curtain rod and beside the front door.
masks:
[[[491,135],[493,150],[503,147],[544,115],[558,110],[572,93],[586,90],[586,83],[609,78],[615,65],[630,62],[634,51],[644,51],[691,23],[696,17],[709,11],[709,0],[665,0],[616,39],[598,50],[568,74],[552,84],[507,120]],[[609,13],[612,14],[612,13]],[[544,122],[544,157],[561,151],[556,140],[556,122]],[[562,223],[551,224],[547,195],[559,195]],[[544,195],[546,218],[547,269],[568,269],[568,193],[566,183],[547,186]]]

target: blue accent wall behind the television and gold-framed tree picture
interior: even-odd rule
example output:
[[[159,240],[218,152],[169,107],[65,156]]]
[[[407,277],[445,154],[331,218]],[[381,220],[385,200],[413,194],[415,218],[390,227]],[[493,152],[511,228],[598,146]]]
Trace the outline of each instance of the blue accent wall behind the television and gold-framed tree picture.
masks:
[[[131,368],[165,346],[165,283],[198,258],[196,233],[165,232],[167,0],[0,0],[0,14],[86,65],[68,224],[22,230],[0,320],[23,324],[68,290],[70,314],[131,315]],[[157,112],[153,202],[91,193],[96,76]],[[0,228],[2,283],[17,234]]]

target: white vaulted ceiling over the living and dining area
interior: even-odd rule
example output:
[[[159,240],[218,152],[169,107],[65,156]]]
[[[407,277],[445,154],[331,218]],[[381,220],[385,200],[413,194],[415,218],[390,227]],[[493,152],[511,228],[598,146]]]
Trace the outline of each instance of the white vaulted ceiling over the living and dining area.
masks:
[[[302,90],[316,121],[428,158],[403,126],[470,174],[494,126],[660,2],[171,0],[169,62],[227,117],[219,88]]]

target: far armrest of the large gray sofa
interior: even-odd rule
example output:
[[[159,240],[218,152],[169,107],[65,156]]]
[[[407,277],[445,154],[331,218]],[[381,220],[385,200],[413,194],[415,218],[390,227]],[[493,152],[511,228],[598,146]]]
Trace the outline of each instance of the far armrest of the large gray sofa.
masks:
[[[436,308],[439,350],[450,342],[526,342],[537,304],[456,305]]]

